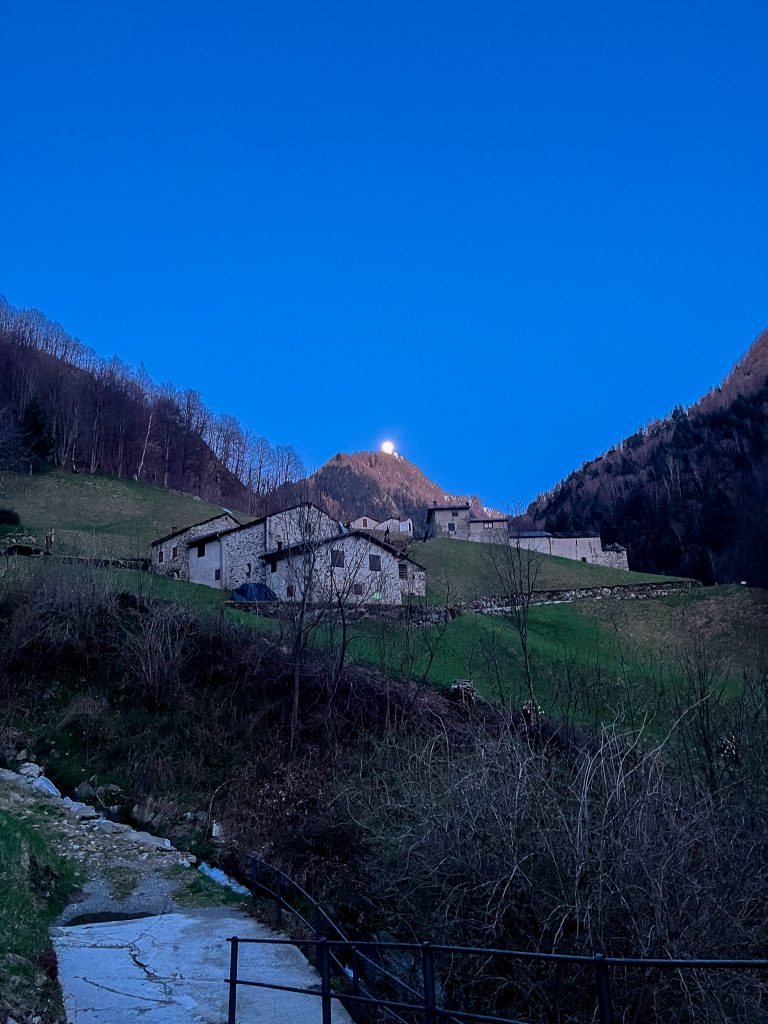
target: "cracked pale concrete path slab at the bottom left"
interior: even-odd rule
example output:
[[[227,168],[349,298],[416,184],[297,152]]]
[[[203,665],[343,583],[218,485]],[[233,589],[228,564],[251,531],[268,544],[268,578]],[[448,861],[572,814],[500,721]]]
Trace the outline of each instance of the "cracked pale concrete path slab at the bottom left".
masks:
[[[244,912],[199,909],[53,930],[70,1024],[224,1024],[227,937],[281,938]],[[294,946],[240,947],[253,981],[315,988],[319,977]],[[240,987],[242,1024],[319,1024],[317,996]],[[351,1024],[334,1002],[334,1024]]]

